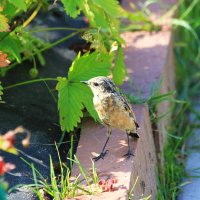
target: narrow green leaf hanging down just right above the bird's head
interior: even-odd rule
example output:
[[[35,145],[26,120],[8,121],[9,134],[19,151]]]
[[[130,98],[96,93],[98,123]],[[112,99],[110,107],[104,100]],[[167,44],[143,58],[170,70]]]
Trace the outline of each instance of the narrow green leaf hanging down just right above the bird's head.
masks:
[[[113,69],[113,81],[117,85],[121,85],[126,77],[126,66],[124,63],[124,54],[121,45],[118,47],[118,54]]]

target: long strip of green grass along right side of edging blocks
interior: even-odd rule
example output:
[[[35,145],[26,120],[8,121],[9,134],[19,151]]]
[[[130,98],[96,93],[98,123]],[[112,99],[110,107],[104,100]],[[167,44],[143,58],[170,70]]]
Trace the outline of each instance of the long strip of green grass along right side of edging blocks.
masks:
[[[180,0],[178,20],[175,26],[176,89],[177,98],[185,104],[176,105],[172,124],[168,130],[168,142],[164,148],[164,168],[159,171],[158,200],[175,200],[180,192],[183,178],[186,176],[184,162],[187,156],[185,142],[192,134],[189,122],[192,113],[192,99],[199,96],[198,80],[199,54],[199,0]],[[194,112],[193,112],[194,114]],[[198,113],[195,113],[198,115]]]

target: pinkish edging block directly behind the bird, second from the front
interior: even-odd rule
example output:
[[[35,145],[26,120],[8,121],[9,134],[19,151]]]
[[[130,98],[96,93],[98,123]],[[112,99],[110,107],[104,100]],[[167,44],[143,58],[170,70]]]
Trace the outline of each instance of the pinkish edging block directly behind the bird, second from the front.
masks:
[[[123,90],[142,98],[150,97],[152,85],[161,82],[160,93],[174,91],[175,75],[173,63],[173,38],[171,31],[157,33],[127,32],[122,35],[126,41],[125,63],[129,79],[124,83]],[[133,90],[130,91],[130,80],[133,80]],[[139,92],[138,92],[139,91]],[[157,107],[157,115],[169,112],[169,102],[162,102]],[[170,115],[157,123],[154,130],[158,157],[166,141],[166,130],[170,122]]]

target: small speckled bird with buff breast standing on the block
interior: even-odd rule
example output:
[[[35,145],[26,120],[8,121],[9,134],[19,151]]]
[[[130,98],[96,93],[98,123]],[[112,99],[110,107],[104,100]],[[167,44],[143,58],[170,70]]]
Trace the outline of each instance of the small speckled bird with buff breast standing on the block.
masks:
[[[108,152],[105,150],[111,136],[112,128],[118,128],[126,132],[128,140],[128,152],[124,155],[128,159],[133,156],[130,148],[129,136],[139,138],[137,129],[139,128],[134,112],[127,99],[119,92],[111,79],[98,76],[88,81],[81,81],[90,87],[93,92],[93,104],[103,125],[107,127],[107,140],[99,156],[94,157],[95,161]]]

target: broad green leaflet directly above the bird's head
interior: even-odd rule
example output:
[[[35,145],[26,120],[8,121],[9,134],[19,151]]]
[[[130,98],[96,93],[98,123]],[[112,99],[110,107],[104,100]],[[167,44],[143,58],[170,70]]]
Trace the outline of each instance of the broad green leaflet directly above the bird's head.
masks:
[[[80,53],[72,63],[68,79],[70,81],[83,81],[95,76],[107,76],[112,65],[112,54],[86,53],[80,57]]]

